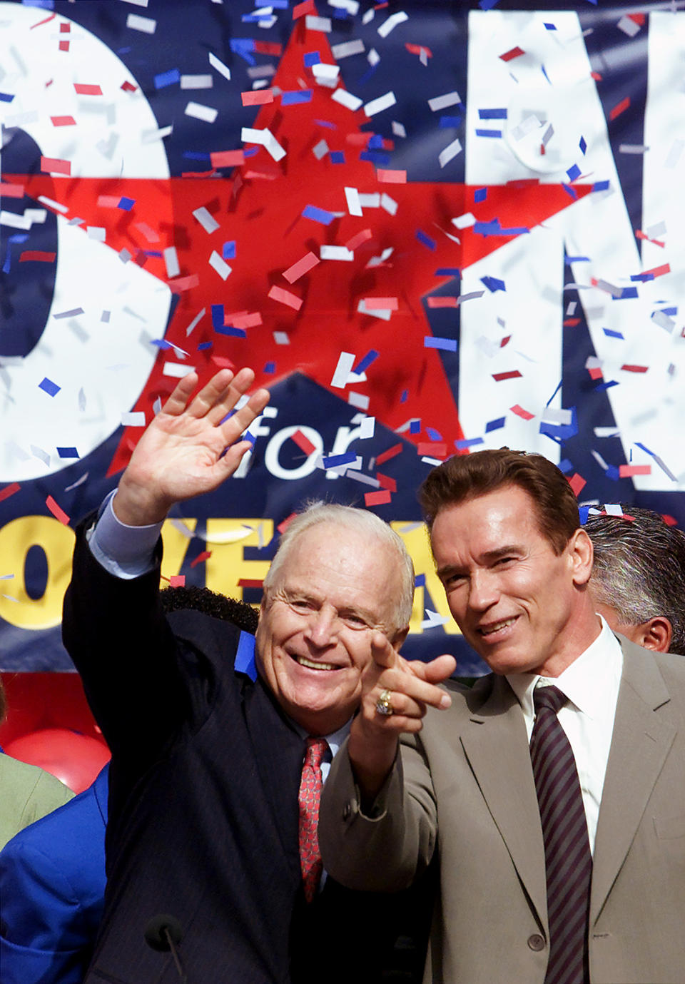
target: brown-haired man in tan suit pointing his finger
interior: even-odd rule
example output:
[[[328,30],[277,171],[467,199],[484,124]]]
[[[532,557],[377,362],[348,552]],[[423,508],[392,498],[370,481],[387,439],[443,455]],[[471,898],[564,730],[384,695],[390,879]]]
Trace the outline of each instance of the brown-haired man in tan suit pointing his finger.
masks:
[[[592,543],[550,462],[507,449],[453,458],[420,499],[452,614],[493,672],[446,693],[452,657],[408,664],[377,647],[322,799],[327,870],[392,892],[437,852],[426,982],[684,982],[685,661],[595,614]],[[530,758],[550,683],[566,702],[554,726],[572,752],[592,872],[551,941],[548,804]],[[569,864],[569,884],[581,867]],[[554,954],[576,917],[566,976]]]

